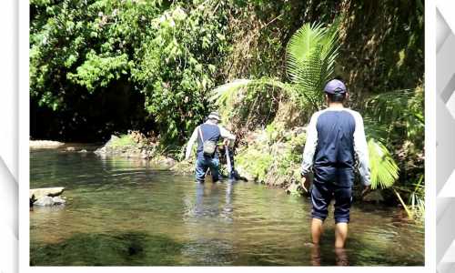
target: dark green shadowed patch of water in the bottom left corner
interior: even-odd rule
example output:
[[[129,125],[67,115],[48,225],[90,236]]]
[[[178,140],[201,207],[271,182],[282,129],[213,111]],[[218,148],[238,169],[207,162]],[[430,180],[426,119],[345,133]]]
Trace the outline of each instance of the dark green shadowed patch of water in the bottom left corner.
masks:
[[[172,266],[182,245],[164,236],[79,233],[55,244],[31,244],[31,266]]]

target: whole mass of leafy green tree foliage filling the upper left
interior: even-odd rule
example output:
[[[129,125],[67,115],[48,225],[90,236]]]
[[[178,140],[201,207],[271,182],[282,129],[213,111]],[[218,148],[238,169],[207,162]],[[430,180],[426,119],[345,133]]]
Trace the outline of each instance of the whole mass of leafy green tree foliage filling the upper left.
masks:
[[[122,86],[144,97],[138,109],[147,110],[141,115],[164,141],[182,141],[210,110],[207,91],[229,51],[225,5],[33,1],[32,101],[70,116],[77,105],[119,96]],[[83,118],[100,115],[93,112]]]

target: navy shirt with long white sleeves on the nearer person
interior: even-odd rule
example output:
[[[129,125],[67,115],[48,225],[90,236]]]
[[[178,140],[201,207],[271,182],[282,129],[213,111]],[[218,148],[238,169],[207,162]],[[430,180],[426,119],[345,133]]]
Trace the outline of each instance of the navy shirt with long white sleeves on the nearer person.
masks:
[[[356,162],[369,184],[368,148],[363,120],[349,108],[327,108],[311,116],[302,172],[315,171],[315,183],[351,187]]]

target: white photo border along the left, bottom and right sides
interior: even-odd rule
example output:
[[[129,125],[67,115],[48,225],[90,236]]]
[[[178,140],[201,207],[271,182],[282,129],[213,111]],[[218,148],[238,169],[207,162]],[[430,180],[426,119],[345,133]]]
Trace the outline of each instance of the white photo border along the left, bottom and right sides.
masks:
[[[29,230],[29,3],[19,1],[19,272],[436,272],[436,5],[425,1],[425,266],[424,267],[30,267]]]

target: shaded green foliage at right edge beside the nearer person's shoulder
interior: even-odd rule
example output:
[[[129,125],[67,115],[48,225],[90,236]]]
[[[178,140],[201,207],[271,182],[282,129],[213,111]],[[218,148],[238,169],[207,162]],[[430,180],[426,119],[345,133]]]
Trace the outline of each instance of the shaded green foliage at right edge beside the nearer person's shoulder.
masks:
[[[397,166],[395,160],[398,159],[401,174],[404,175],[400,177],[401,185],[398,187],[412,187],[409,185],[408,179],[414,180],[423,174],[422,86],[370,96],[365,100],[363,112],[365,113],[367,135],[371,139],[387,144],[387,147],[383,146],[382,149],[387,149],[389,160],[383,161],[384,166],[381,168],[387,169],[390,165]],[[375,164],[375,162],[371,163],[372,171],[376,171],[373,170]]]

